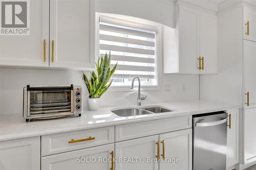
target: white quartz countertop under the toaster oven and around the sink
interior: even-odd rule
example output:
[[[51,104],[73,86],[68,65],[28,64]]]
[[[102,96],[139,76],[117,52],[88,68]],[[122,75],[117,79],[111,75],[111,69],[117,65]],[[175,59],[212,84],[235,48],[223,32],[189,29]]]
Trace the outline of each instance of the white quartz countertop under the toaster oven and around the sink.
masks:
[[[174,111],[120,117],[112,113],[111,110],[137,108],[137,106],[105,107],[100,108],[98,111],[83,111],[81,117],[72,116],[33,120],[28,123],[25,122],[22,114],[1,115],[0,141],[240,108],[240,106],[207,101],[156,103],[142,105],[141,107],[143,108],[145,106],[162,106],[163,108]]]

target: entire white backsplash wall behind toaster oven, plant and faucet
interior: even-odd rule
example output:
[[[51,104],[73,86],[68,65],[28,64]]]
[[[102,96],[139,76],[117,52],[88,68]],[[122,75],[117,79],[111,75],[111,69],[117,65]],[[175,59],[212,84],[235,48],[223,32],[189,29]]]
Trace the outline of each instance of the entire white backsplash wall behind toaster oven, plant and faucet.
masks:
[[[23,87],[31,85],[82,85],[83,99],[88,92],[82,81],[81,71],[35,70],[0,68],[0,115],[20,114],[23,112]],[[165,91],[164,86],[171,90]],[[183,90],[183,86],[185,89]],[[177,100],[199,99],[199,77],[191,75],[163,75],[161,90],[142,91],[148,97],[142,104]],[[101,107],[135,105],[136,91],[108,91],[101,98]],[[83,101],[87,108],[87,101]]]

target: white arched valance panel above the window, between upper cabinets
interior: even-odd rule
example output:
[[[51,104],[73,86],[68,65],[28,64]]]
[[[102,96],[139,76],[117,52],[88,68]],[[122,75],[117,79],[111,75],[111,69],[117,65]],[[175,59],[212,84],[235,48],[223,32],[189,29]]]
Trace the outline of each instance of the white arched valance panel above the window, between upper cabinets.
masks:
[[[152,20],[175,28],[176,7],[169,0],[95,0],[95,11]]]

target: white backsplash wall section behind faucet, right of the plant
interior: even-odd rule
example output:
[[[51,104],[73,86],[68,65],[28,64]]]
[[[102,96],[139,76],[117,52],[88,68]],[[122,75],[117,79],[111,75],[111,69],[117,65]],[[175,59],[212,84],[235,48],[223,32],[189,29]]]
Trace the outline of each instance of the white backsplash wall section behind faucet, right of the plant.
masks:
[[[170,75],[162,78],[160,90],[142,91],[142,96],[148,95],[143,104],[159,103],[181,100],[199,99],[199,76],[197,75]],[[165,86],[170,85],[170,91]],[[110,91],[102,96],[102,106],[136,105],[138,92],[136,91]]]

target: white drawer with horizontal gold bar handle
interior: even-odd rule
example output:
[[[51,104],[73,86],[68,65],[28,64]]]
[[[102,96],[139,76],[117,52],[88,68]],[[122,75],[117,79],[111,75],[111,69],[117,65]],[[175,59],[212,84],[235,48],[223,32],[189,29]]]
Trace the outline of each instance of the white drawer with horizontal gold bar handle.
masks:
[[[45,135],[41,137],[41,155],[52,155],[113,142],[114,127]]]

